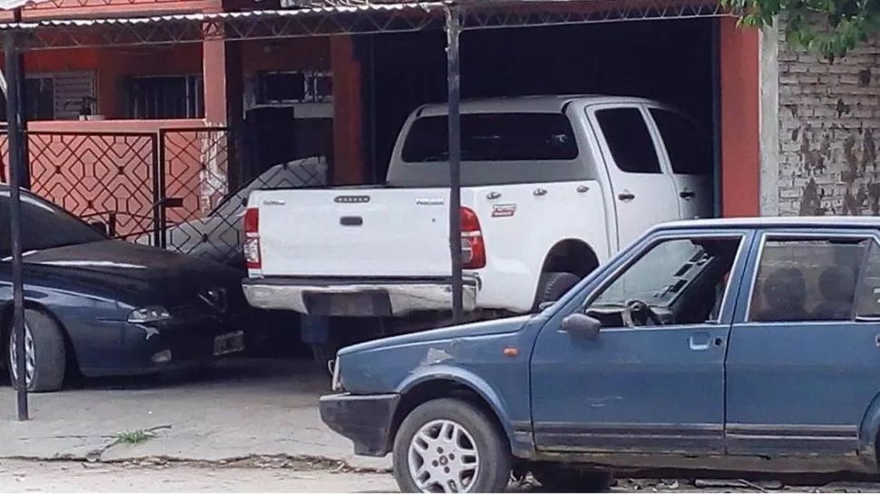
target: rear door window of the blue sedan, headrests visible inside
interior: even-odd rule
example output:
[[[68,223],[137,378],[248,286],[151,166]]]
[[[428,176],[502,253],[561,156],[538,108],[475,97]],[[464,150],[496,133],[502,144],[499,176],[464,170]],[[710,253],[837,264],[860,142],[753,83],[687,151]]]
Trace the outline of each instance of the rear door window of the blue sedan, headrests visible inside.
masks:
[[[849,321],[867,239],[773,239],[761,250],[748,321]]]

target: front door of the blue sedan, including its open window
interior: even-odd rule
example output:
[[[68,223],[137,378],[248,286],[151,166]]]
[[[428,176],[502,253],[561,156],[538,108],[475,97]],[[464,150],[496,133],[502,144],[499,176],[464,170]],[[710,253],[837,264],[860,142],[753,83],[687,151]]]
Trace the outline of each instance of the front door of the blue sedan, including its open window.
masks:
[[[723,451],[724,358],[750,239],[654,235],[557,311],[533,350],[537,448]],[[600,320],[601,331],[566,332],[563,320],[576,312]]]

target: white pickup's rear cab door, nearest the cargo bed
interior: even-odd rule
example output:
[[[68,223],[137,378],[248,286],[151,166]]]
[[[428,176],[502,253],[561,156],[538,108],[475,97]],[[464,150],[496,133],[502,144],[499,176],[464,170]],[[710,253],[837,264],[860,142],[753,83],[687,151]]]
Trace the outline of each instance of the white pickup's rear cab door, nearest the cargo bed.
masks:
[[[678,193],[660,160],[640,104],[597,104],[587,116],[601,149],[621,246],[650,227],[680,217]]]

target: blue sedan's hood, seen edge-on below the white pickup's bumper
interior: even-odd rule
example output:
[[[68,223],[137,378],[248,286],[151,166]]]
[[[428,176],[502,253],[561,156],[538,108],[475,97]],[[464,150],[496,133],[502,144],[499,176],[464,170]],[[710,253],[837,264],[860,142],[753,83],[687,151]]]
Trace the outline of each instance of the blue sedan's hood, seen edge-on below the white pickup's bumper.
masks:
[[[436,330],[418,331],[400,336],[392,336],[381,340],[367,341],[346,347],[338,352],[340,357],[357,353],[360,351],[374,351],[388,349],[392,347],[413,345],[419,343],[428,343],[433,341],[450,341],[456,338],[466,338],[474,336],[487,336],[492,334],[504,334],[519,331],[526,322],[532,319],[533,315],[526,314],[504,319],[495,319],[491,321],[471,322],[458,326],[450,326],[448,328],[440,328]]]

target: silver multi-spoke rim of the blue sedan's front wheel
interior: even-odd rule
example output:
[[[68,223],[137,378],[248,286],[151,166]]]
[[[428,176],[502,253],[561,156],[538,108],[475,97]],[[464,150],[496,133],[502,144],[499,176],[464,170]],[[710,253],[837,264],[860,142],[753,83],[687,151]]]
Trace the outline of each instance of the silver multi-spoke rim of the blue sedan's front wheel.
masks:
[[[476,441],[452,420],[434,420],[418,430],[407,459],[409,476],[422,492],[469,492],[479,473]]]

